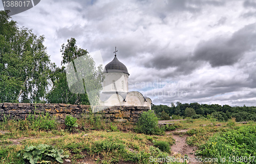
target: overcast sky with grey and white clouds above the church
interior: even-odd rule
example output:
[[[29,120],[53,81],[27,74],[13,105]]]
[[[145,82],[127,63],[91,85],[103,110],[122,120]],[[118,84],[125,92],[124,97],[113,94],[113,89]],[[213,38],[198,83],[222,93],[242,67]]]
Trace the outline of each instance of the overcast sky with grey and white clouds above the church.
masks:
[[[256,1],[42,0],[12,18],[45,35],[57,65],[71,37],[104,64],[117,46],[129,90],[153,104],[256,106]]]

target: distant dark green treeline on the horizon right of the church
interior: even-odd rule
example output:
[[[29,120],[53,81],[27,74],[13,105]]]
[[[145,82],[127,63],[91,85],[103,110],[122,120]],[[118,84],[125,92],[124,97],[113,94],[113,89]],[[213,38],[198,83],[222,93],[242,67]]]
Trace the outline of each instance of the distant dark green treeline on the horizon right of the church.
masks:
[[[199,118],[215,118],[218,121],[227,121],[231,118],[236,118],[237,122],[241,121],[256,121],[256,107],[251,106],[235,106],[219,105],[219,104],[199,104],[199,103],[185,103],[177,102],[171,106],[167,105],[153,105],[152,109],[155,110],[160,120],[181,119],[190,117],[192,119]]]

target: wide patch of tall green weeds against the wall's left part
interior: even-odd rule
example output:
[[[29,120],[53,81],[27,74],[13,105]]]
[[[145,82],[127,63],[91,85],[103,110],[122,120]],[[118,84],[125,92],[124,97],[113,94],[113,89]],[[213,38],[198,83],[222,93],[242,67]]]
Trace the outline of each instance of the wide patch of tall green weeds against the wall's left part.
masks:
[[[18,121],[18,128],[20,130],[53,130],[56,127],[56,120],[48,112],[39,116],[29,114],[25,120]]]

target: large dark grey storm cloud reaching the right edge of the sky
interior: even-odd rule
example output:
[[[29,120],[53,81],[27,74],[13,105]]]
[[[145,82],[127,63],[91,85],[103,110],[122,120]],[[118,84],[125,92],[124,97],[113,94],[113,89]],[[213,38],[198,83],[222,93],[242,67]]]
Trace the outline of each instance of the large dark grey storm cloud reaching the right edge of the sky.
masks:
[[[212,67],[233,65],[245,52],[256,46],[255,24],[247,25],[231,37],[219,36],[208,41],[201,41],[194,53],[193,60],[208,61]]]

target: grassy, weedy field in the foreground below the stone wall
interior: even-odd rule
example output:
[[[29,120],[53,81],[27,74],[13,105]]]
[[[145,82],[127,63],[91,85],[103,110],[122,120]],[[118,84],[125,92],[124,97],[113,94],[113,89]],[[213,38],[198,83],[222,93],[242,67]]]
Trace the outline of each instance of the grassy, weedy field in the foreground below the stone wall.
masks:
[[[79,119],[78,126],[73,129],[57,124],[50,117],[44,119],[0,122],[0,163],[28,163],[22,156],[17,157],[17,152],[24,150],[25,146],[39,144],[62,149],[63,155],[69,155],[71,163],[161,163],[151,162],[150,159],[173,156],[170,147],[175,140],[172,134],[138,134],[134,132],[136,125],[132,123],[104,122],[99,116]],[[197,146],[197,155],[201,157],[218,158],[217,163],[256,163],[256,159],[252,161],[256,156],[255,122],[239,124],[234,120],[216,122],[197,119],[162,127],[162,130],[179,129],[188,129],[179,135],[186,135],[187,144]],[[227,161],[220,162],[224,156]],[[44,162],[58,163],[52,158],[41,163]]]

